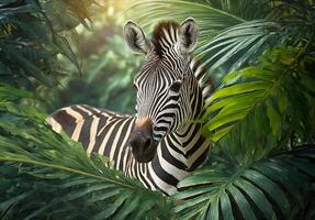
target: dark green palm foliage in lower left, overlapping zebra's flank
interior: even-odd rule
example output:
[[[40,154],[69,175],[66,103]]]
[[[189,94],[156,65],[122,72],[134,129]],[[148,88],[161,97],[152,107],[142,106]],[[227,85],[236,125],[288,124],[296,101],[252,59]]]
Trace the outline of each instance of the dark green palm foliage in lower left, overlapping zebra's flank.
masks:
[[[167,219],[171,200],[53,132],[34,109],[1,105],[0,216],[7,219]],[[32,116],[32,118],[30,118]],[[139,205],[143,206],[139,206]]]

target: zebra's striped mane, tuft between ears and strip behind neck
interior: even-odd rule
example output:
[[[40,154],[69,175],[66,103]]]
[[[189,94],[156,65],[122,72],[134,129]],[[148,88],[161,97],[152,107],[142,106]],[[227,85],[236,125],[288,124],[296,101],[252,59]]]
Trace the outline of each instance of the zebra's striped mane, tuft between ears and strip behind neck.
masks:
[[[160,21],[158,24],[155,25],[151,34],[151,42],[155,46],[155,52],[159,57],[162,56],[166,47],[177,42],[178,28],[179,24],[171,20]],[[204,99],[207,99],[214,89],[211,77],[207,76],[204,65],[200,61],[194,58],[192,55],[190,56],[189,62],[190,68],[202,89],[202,95]]]

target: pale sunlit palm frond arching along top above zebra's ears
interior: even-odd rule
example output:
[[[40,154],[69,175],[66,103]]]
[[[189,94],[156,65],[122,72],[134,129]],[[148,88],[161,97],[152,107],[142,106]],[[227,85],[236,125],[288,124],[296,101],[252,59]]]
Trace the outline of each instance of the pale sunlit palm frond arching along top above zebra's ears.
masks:
[[[254,8],[257,9],[256,13],[250,10]],[[130,18],[136,19],[143,25],[155,24],[161,19],[172,19],[180,22],[187,16],[193,16],[199,21],[201,38],[210,38],[229,26],[246,22],[247,19],[262,19],[265,12],[260,12],[260,10],[262,11],[266,8],[268,8],[266,2],[245,0],[229,3],[224,0],[198,2],[184,0],[134,0],[131,6],[127,6],[128,10],[126,13],[130,13]],[[246,12],[248,13],[246,14]]]

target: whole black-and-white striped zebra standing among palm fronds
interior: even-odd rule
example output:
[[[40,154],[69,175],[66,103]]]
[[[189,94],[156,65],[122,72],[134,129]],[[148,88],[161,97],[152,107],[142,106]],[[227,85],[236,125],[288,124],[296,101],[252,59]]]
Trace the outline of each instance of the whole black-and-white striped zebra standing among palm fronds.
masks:
[[[87,105],[53,112],[47,122],[79,141],[87,153],[109,157],[112,167],[151,190],[177,191],[179,180],[203,164],[210,141],[193,122],[203,111],[212,85],[193,58],[199,35],[194,19],[180,24],[161,21],[148,40],[133,21],[124,26],[126,45],[145,54],[134,77],[136,114],[127,116]]]

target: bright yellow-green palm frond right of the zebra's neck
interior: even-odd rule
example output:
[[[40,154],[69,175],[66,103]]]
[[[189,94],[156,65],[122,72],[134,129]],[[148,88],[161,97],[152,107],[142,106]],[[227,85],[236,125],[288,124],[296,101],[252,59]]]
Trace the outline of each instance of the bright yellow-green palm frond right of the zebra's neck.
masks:
[[[268,145],[277,145],[271,136],[274,141],[286,139],[289,128],[307,133],[315,106],[314,76],[303,67],[307,59],[314,59],[308,53],[304,46],[271,50],[257,66],[227,75],[223,88],[207,102],[203,120],[210,120],[204,134],[218,141],[230,133],[232,139],[247,142],[245,148],[250,151],[250,144],[261,144],[257,155],[263,156],[261,152],[270,151]],[[270,134],[269,140],[262,141],[260,133]]]

